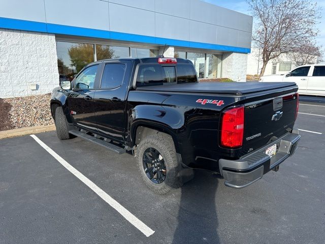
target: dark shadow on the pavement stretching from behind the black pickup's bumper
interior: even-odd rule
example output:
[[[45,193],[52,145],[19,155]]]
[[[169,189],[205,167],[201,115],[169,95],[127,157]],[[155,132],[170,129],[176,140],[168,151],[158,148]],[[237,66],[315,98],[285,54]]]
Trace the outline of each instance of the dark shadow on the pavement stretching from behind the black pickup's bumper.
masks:
[[[205,170],[183,185],[178,211],[176,243],[219,243],[215,194],[221,177]]]

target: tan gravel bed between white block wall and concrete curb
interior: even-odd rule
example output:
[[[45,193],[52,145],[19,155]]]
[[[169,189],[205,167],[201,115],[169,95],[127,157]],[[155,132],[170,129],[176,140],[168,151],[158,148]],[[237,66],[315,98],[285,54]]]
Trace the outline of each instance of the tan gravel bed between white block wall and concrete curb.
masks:
[[[1,103],[11,106],[7,116],[11,125],[0,130],[18,129],[30,126],[47,126],[54,124],[50,111],[51,94],[3,99]],[[2,112],[1,112],[2,113]]]

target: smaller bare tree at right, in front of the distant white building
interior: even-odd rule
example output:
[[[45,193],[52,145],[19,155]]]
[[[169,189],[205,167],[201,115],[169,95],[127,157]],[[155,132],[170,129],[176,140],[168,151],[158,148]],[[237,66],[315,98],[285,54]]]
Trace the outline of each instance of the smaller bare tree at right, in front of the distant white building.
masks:
[[[296,66],[315,64],[321,60],[322,51],[316,43],[305,43],[288,53],[287,56],[293,60]]]

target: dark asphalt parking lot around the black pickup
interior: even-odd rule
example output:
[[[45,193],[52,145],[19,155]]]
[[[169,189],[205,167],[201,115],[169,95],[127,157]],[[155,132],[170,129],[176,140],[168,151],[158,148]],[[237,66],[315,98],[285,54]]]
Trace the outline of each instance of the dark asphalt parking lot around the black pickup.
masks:
[[[164,196],[145,187],[132,155],[80,138],[60,141],[55,132],[36,135],[103,191],[95,193],[31,136],[0,140],[0,243],[322,244],[325,99],[301,96],[296,128],[296,154],[255,184],[235,190],[197,171]],[[154,233],[146,236],[137,220]]]

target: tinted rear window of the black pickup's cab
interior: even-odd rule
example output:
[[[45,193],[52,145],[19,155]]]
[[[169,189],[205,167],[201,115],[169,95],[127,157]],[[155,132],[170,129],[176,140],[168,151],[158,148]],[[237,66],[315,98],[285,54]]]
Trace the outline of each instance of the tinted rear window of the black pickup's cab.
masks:
[[[137,87],[149,85],[168,85],[197,82],[197,75],[191,64],[164,66],[159,64],[141,64],[137,75]]]

